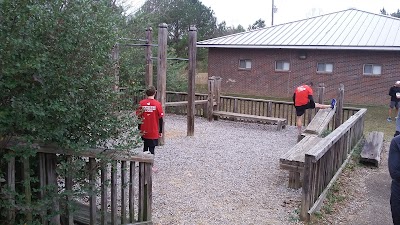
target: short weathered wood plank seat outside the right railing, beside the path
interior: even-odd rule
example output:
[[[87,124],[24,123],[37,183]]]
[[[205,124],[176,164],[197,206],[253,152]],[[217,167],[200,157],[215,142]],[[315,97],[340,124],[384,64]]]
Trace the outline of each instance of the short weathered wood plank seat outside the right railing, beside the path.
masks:
[[[381,161],[382,146],[383,132],[372,131],[369,133],[361,151],[360,162],[372,163],[378,167]]]

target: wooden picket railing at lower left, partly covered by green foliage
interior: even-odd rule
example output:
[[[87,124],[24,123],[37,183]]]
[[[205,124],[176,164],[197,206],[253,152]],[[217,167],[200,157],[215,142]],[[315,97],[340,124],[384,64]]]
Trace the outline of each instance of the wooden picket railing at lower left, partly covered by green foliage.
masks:
[[[7,150],[11,151],[11,150]],[[44,199],[48,192],[48,187],[53,186],[55,193],[60,196],[67,196],[64,199],[58,197],[52,200],[51,218],[48,211],[40,213],[41,224],[128,224],[141,222],[140,224],[151,224],[152,222],[152,164],[154,157],[151,154],[125,152],[110,149],[89,149],[86,151],[68,151],[49,146],[37,146],[36,158],[39,160],[38,166],[30,165],[33,157],[22,160],[12,157],[8,161],[7,179],[4,186],[9,193],[16,189],[21,189],[23,184],[24,198],[26,200],[25,221],[32,221],[32,214],[35,209],[29,209],[32,199]],[[89,190],[85,193],[86,197],[74,199],[68,193],[76,188],[76,177],[60,175],[59,162],[64,160],[66,165],[71,163],[75,157],[86,159],[86,171],[88,177]],[[18,165],[22,161],[23,175],[18,175]],[[56,171],[57,168],[57,171]],[[38,171],[33,171],[37,169]],[[33,175],[38,174],[40,193],[35,196]],[[100,173],[98,173],[100,171]],[[83,172],[83,171],[81,171]],[[99,176],[98,176],[99,175]],[[4,190],[5,190],[4,189]],[[119,194],[118,194],[119,193]],[[54,194],[54,193],[53,193]],[[84,199],[88,199],[84,200]],[[9,203],[14,205],[15,196],[8,195]],[[71,211],[70,207],[75,205],[77,209]],[[62,209],[62,210],[60,210]],[[137,211],[135,211],[135,209]],[[59,212],[63,212],[59,214]],[[5,224],[15,224],[17,208],[10,209],[8,220]],[[36,218],[37,219],[37,218]]]

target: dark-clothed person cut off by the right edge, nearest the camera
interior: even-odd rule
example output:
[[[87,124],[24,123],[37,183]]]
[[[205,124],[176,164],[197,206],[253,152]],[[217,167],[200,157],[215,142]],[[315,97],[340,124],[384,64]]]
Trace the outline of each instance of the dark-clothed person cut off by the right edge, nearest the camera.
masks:
[[[390,142],[388,157],[389,174],[392,178],[390,209],[394,225],[400,225],[400,135]]]

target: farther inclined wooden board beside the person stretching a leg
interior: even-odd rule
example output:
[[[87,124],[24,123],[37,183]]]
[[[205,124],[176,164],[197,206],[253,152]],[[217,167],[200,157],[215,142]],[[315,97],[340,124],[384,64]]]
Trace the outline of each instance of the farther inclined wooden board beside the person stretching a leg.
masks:
[[[334,109],[320,109],[314,118],[308,124],[303,133],[321,135],[322,132],[328,127],[329,122],[335,115],[336,107]]]

